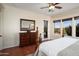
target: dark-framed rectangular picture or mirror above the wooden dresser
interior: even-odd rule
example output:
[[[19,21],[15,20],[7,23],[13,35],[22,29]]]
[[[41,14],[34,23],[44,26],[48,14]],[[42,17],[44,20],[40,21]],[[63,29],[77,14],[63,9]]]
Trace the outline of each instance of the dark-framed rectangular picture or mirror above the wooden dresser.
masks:
[[[20,19],[20,30],[35,30],[35,20]]]

